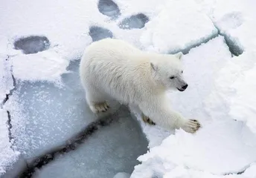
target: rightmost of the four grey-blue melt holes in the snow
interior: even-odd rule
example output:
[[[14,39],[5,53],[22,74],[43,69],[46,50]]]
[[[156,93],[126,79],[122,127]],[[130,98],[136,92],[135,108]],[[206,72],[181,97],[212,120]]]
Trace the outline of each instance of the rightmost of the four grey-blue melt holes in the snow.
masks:
[[[137,15],[130,16],[129,18],[124,19],[119,27],[122,29],[132,29],[132,28],[143,28],[147,22],[149,22],[147,16],[143,13],[138,13]]]

